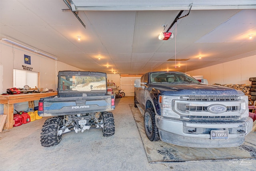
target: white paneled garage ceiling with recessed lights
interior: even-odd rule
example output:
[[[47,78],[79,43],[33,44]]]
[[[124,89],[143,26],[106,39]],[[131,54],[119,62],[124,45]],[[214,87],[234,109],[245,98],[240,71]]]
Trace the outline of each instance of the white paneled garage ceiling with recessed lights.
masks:
[[[122,74],[144,74],[168,68],[191,71],[256,54],[255,0],[193,1],[190,14],[176,23],[177,35],[166,41],[158,40],[163,31],[162,24],[167,24],[168,28],[182,8],[186,10],[182,16],[186,14],[188,0],[80,2],[86,2],[88,6],[99,5],[93,7],[96,10],[76,12],[86,28],[71,10],[62,10],[68,6],[61,0],[1,0],[0,39],[8,38],[38,49],[81,70],[108,74],[112,70]],[[228,10],[227,4],[233,2],[231,8],[234,9]],[[111,3],[124,7],[115,7],[116,11],[111,11],[108,10]],[[140,6],[140,3],[146,6]],[[166,6],[161,6],[164,3]],[[174,6],[168,6],[168,3]],[[201,8],[209,9],[226,6],[226,10],[196,10],[196,3],[204,3]],[[211,5],[214,3],[216,6]],[[149,7],[150,4],[153,6]],[[104,5],[109,6],[105,8]],[[133,6],[128,8],[128,5]],[[241,10],[246,5],[251,9]],[[133,10],[133,7],[140,9]],[[104,8],[108,11],[102,10]],[[126,10],[122,11],[122,8]],[[172,9],[166,10],[168,8]],[[175,34],[175,25],[170,31]],[[253,35],[251,40],[247,39],[248,34]],[[81,36],[80,41],[77,36]],[[180,68],[174,68],[173,62],[166,62],[175,59],[175,52],[176,59],[190,58],[186,68],[184,62],[180,63]],[[199,56],[201,60],[198,60]]]

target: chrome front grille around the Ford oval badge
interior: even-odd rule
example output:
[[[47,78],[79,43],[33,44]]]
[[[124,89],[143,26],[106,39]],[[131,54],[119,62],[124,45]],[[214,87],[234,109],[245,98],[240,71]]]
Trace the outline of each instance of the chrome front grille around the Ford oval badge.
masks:
[[[240,118],[240,100],[239,96],[213,96],[213,95],[189,95],[182,96],[176,100],[175,109],[182,117],[189,120],[237,120]],[[231,102],[231,103],[230,103]],[[226,106],[226,111],[223,113],[212,113],[208,111],[208,107],[215,104]]]

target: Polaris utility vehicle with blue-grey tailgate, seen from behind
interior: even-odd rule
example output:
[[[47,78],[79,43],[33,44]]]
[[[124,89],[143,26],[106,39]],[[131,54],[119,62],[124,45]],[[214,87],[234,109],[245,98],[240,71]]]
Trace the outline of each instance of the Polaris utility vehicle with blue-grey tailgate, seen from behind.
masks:
[[[71,131],[102,129],[103,136],[114,135],[113,113],[115,99],[107,94],[106,73],[60,71],[58,95],[41,98],[38,115],[52,116],[44,122],[41,145],[50,147],[60,143],[62,135]]]

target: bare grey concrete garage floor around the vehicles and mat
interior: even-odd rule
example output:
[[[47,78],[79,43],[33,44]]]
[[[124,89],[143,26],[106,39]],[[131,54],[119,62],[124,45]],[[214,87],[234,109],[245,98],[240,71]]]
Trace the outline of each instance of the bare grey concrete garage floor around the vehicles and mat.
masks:
[[[255,171],[256,160],[148,163],[129,104],[133,97],[116,99],[116,131],[103,137],[102,130],[63,135],[60,144],[42,147],[44,120],[36,120],[0,133],[0,171]],[[255,141],[256,134],[247,137]]]

